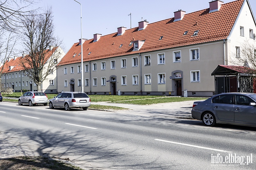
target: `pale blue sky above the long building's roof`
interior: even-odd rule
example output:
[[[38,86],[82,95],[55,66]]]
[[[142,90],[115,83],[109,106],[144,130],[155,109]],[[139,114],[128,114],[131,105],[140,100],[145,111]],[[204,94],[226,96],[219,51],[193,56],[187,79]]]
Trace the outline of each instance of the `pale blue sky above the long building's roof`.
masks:
[[[209,8],[211,0],[77,0],[82,5],[82,37],[92,39],[93,34],[108,35],[117,32],[118,27],[137,27],[138,22],[147,20],[149,23],[174,17],[175,11],[181,9],[187,13]],[[223,1],[223,0],[222,0]],[[224,0],[224,3],[233,0]],[[256,1],[249,0],[254,15]],[[52,7],[55,33],[63,39],[65,52],[81,38],[80,5],[74,0],[42,0],[36,6]],[[36,7],[35,6],[35,7]]]

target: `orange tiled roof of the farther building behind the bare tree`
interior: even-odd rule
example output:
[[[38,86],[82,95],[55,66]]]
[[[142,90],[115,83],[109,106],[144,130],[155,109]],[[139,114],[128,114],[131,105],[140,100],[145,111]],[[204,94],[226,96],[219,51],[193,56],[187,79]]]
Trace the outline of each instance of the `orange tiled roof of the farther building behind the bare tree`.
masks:
[[[51,55],[53,54],[53,52],[57,49],[58,47],[54,47],[51,51],[49,49],[46,50],[46,60],[49,59],[51,57]],[[29,55],[24,56],[28,57]],[[3,72],[2,73],[10,73],[10,72],[14,72],[14,71],[20,71],[20,70],[24,70],[21,64],[21,61],[24,59],[22,57],[17,57],[15,60],[14,58],[11,59],[10,61],[6,60],[5,64],[2,66],[3,68]],[[9,66],[13,66],[13,69],[9,70]],[[2,69],[2,67],[0,67],[0,71]],[[26,66],[28,67],[28,66]]]

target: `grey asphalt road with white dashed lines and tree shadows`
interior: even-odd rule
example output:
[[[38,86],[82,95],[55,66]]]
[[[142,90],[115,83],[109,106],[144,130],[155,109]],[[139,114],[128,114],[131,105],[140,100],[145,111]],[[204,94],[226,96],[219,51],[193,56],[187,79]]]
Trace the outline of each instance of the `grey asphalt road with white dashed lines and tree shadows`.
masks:
[[[102,170],[256,169],[255,128],[205,127],[177,118],[174,110],[178,117],[181,112],[171,104],[169,114],[164,108],[133,107],[64,111],[1,102],[0,158],[58,156],[84,169]],[[191,109],[186,110],[189,115]]]

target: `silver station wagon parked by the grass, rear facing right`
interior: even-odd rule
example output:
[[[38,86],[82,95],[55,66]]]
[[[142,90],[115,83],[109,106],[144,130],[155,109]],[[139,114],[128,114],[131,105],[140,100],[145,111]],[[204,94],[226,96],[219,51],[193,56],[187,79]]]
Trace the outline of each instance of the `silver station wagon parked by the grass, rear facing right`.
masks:
[[[87,110],[91,105],[91,99],[84,92],[62,92],[49,100],[49,108],[62,107],[66,111],[71,108],[82,108]]]

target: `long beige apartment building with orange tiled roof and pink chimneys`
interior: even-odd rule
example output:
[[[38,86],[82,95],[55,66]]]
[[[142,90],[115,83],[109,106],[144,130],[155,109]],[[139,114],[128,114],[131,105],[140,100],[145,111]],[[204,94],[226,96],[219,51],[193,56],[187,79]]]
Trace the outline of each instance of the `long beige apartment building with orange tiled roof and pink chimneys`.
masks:
[[[58,92],[80,91],[83,81],[88,94],[214,95],[212,71],[230,65],[242,41],[255,41],[255,23],[248,0],[215,0],[189,14],[178,10],[174,18],[94,34],[73,44],[59,62]]]

